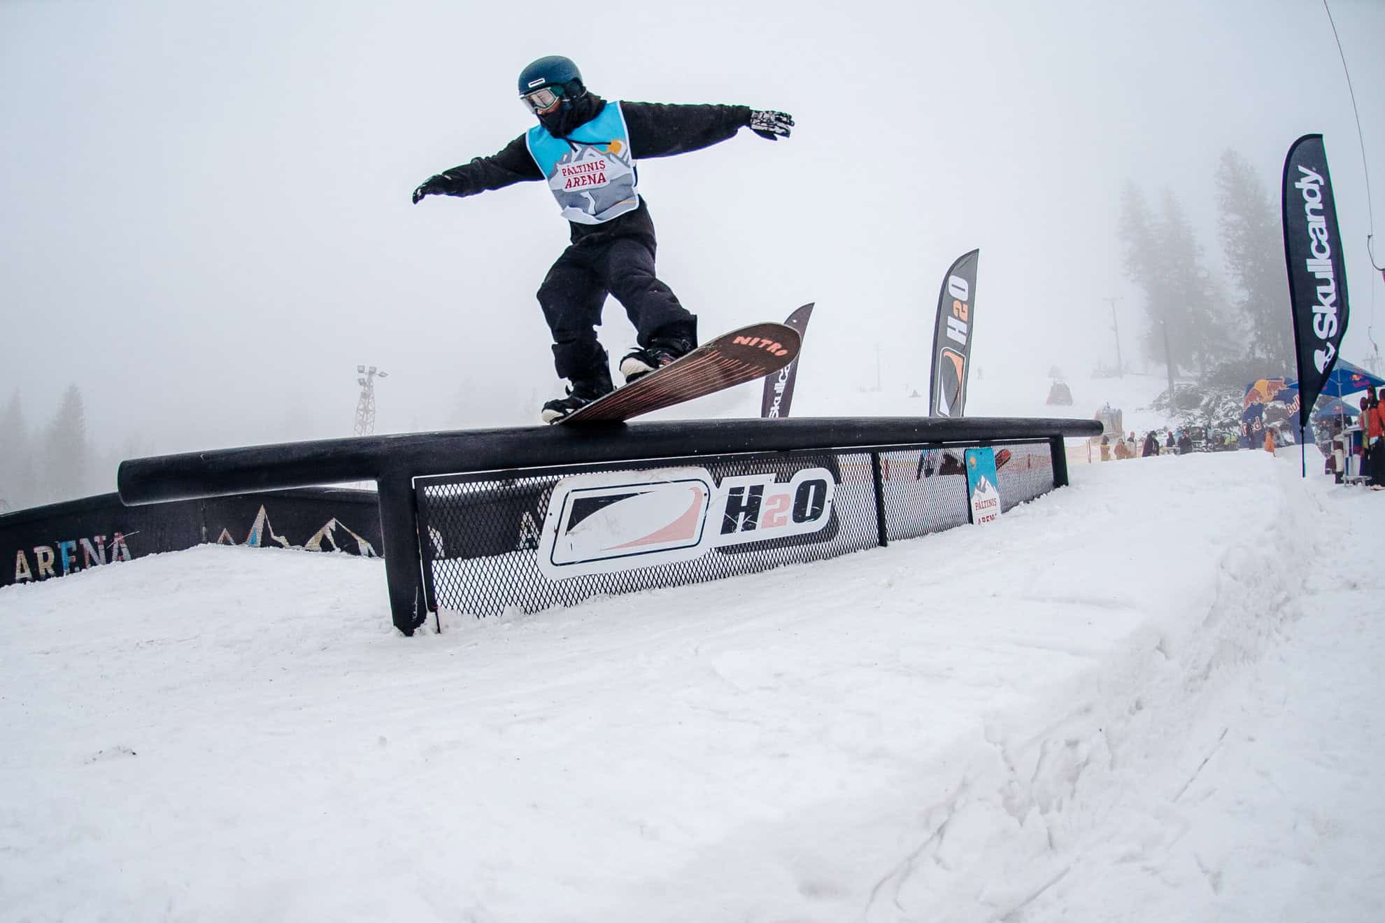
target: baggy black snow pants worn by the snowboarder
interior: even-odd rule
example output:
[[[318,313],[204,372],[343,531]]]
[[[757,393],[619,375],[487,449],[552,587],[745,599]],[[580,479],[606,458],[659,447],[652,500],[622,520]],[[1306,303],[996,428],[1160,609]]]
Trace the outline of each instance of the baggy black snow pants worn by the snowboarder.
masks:
[[[558,256],[539,287],[539,305],[553,331],[560,378],[605,376],[607,353],[596,328],[607,295],[615,295],[625,308],[641,346],[659,337],[697,342],[697,317],[654,276],[654,249],[652,234],[590,234]]]

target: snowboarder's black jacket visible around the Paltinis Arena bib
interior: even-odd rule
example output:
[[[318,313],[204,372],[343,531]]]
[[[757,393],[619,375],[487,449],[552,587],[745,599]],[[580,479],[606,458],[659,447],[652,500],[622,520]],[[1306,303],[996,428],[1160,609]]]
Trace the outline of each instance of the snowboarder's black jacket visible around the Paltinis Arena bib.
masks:
[[[601,97],[591,97],[590,115],[583,125],[594,119],[605,108]],[[733,137],[741,128],[751,123],[748,105],[673,105],[663,103],[622,103],[625,125],[630,132],[630,157],[636,161],[650,157],[673,157]],[[446,195],[475,195],[493,188],[504,188],[515,183],[542,180],[539,165],[529,155],[525,136],[506,144],[490,157],[474,158],[470,164],[454,166],[439,173],[446,182]],[[572,241],[600,237],[648,236],[654,238],[654,222],[640,197],[640,208],[601,225],[572,226]]]

